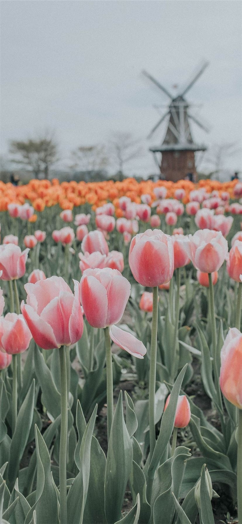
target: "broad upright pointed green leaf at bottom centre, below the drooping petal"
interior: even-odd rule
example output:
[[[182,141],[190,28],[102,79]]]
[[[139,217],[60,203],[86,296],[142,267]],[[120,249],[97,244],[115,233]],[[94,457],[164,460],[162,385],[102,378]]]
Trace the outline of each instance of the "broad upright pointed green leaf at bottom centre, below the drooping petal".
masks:
[[[105,514],[108,524],[118,521],[133,462],[133,447],[124,421],[120,391],[107,450],[105,471]]]

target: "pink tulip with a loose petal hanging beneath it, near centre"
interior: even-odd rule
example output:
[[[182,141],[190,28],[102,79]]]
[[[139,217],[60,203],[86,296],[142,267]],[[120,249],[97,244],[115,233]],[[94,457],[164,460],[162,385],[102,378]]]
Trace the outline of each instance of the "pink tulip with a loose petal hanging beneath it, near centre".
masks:
[[[117,269],[86,269],[80,289],[82,307],[93,328],[119,322],[130,295],[130,283]]]

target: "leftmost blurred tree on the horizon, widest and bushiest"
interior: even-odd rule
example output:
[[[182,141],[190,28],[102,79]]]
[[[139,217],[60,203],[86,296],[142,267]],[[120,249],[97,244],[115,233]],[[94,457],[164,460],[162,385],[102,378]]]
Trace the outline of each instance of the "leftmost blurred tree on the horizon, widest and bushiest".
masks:
[[[58,160],[57,143],[48,132],[36,139],[12,140],[9,152],[14,155],[11,161],[30,168],[35,178],[41,172],[48,178],[50,166]]]

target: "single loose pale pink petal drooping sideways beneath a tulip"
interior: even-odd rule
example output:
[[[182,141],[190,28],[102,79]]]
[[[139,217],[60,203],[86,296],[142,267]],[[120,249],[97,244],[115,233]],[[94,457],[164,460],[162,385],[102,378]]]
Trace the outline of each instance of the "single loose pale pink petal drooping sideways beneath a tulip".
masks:
[[[109,329],[109,335],[112,341],[117,344],[117,346],[130,353],[130,355],[133,355],[137,358],[144,358],[144,355],[146,354],[146,347],[141,342],[141,340],[136,339],[136,337],[131,335],[131,333],[127,333],[127,331],[123,331],[122,329],[113,325]]]

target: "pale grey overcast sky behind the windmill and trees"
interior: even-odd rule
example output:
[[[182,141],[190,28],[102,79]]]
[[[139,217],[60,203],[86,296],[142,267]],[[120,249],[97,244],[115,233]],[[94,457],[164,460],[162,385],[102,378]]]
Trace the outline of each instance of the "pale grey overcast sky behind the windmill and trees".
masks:
[[[2,1],[1,154],[10,139],[56,130],[60,153],[104,143],[113,131],[144,140],[130,172],[156,172],[147,141],[168,97],[142,78],[147,69],[177,94],[197,65],[210,62],[186,95],[210,124],[197,143],[235,143],[225,167],[241,169],[242,3],[237,0]],[[173,88],[178,84],[178,90]],[[202,104],[202,107],[199,105]]]

